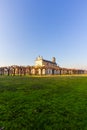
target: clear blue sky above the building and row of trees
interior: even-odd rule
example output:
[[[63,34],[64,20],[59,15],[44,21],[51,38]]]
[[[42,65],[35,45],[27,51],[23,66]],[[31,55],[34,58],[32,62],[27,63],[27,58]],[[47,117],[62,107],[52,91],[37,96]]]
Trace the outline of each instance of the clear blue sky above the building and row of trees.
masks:
[[[34,65],[38,55],[87,67],[87,0],[0,0],[0,66]]]

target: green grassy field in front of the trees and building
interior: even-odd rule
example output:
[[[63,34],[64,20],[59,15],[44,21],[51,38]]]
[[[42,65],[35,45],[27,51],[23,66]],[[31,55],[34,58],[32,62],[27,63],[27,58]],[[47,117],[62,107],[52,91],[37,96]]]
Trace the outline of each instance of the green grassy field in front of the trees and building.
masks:
[[[87,130],[87,77],[0,76],[0,128]]]

